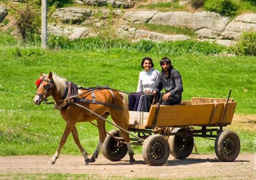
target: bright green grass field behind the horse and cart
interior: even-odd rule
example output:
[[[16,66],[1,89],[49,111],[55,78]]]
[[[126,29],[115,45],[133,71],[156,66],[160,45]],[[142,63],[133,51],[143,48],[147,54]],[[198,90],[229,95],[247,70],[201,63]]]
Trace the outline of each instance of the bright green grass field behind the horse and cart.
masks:
[[[168,56],[183,78],[183,100],[191,97],[231,98],[237,102],[236,113],[255,113],[256,58],[246,56],[206,56],[201,54],[168,55],[157,52],[137,52],[125,49],[42,50],[36,47],[0,47],[0,155],[52,155],[65,123],[52,105],[33,104],[34,82],[39,72],[56,72],[59,76],[83,87],[108,85],[132,92],[136,90],[140,62],[150,56],[155,68]],[[255,129],[230,126],[239,134],[241,151],[252,152]],[[107,130],[113,127],[107,125]],[[229,128],[229,127],[228,127]],[[77,124],[80,140],[92,153],[98,142],[98,131],[89,123]],[[229,128],[230,129],[230,128]],[[196,139],[200,153],[213,153],[214,142]],[[136,153],[141,147],[134,146]],[[71,137],[63,154],[79,155]]]

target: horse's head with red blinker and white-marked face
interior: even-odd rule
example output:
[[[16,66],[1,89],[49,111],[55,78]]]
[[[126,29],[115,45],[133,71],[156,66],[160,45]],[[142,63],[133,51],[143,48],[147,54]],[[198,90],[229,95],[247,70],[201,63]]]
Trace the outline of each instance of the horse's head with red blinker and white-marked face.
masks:
[[[48,75],[40,73],[40,78],[36,80],[37,92],[34,98],[34,103],[40,105],[43,100],[52,95],[52,87],[54,82],[52,79],[52,72]]]

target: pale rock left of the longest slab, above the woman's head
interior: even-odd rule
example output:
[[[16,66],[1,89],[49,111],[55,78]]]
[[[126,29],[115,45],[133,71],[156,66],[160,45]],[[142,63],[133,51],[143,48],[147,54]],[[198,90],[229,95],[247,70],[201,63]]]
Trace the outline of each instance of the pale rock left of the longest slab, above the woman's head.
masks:
[[[145,10],[145,11],[129,11],[123,16],[123,19],[132,23],[147,23],[157,11]]]

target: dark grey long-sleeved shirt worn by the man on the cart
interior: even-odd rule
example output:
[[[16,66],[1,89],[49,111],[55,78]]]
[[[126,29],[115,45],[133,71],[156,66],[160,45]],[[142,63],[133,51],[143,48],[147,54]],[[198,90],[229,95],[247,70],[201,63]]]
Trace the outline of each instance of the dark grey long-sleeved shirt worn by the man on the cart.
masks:
[[[166,93],[170,92],[171,96],[175,96],[183,92],[183,84],[180,73],[174,69],[169,69],[169,76],[166,77],[164,70],[158,75],[156,86],[154,90],[160,93],[162,89],[165,89]]]

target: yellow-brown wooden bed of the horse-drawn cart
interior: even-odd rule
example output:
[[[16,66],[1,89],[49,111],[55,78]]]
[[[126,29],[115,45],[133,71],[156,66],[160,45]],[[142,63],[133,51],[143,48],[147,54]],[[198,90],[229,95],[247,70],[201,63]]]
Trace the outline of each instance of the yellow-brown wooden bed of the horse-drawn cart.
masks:
[[[174,106],[161,105],[157,117],[157,127],[228,125],[232,122],[236,102],[230,99],[226,108],[226,101],[223,98],[192,98],[191,101],[182,101],[181,104]],[[149,112],[129,112],[129,128],[154,127],[156,105],[152,105]]]

